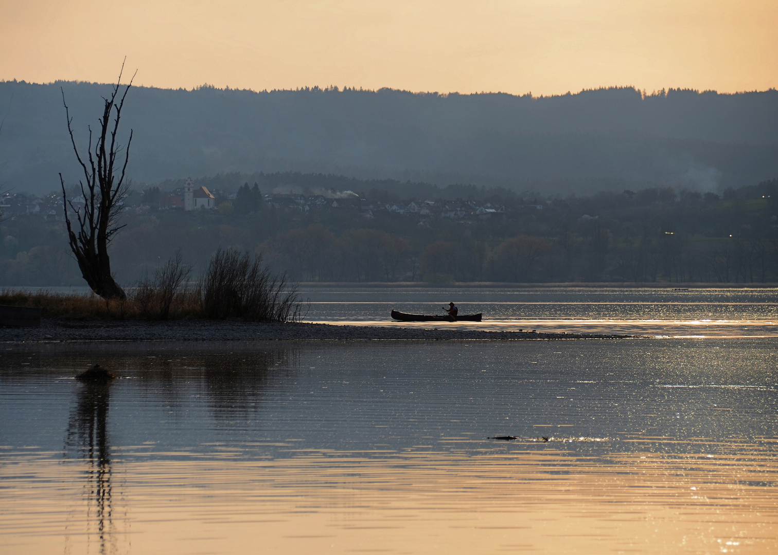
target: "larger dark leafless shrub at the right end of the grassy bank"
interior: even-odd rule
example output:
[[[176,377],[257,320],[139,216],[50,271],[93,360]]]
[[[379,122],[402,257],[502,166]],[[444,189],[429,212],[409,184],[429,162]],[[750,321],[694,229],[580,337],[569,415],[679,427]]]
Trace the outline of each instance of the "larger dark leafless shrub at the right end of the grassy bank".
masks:
[[[276,275],[258,255],[217,250],[199,284],[202,316],[242,318],[254,322],[289,322],[300,318],[297,288]]]

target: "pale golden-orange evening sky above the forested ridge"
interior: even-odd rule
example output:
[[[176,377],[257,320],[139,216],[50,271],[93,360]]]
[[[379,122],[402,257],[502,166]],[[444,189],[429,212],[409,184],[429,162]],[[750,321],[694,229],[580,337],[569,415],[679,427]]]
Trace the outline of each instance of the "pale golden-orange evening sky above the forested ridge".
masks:
[[[0,79],[559,94],[778,87],[778,0],[0,0]]]

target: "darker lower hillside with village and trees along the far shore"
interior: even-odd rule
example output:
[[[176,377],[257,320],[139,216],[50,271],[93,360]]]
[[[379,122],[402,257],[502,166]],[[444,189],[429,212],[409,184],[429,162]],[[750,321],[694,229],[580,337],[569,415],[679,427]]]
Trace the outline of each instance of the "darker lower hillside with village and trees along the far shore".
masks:
[[[142,281],[175,250],[197,274],[224,246],[261,253],[293,281],[778,281],[778,180],[723,194],[650,187],[543,197],[295,173],[254,175],[251,187],[246,177],[195,180],[210,187],[210,210],[165,206],[180,182],[166,184],[168,195],[132,191],[111,244],[117,281]],[[285,182],[300,192],[274,192]],[[61,196],[8,194],[2,204],[0,284],[81,284]]]

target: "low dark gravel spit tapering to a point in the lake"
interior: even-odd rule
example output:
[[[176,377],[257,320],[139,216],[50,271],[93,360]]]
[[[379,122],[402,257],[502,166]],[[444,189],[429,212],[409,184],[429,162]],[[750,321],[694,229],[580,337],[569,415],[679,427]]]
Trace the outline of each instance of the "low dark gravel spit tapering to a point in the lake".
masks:
[[[0,328],[0,343],[82,341],[247,341],[247,340],[520,340],[621,339],[596,333],[533,333],[430,329],[419,327],[338,326],[321,323],[257,323],[238,320],[140,320],[74,322],[41,319],[40,327]]]

